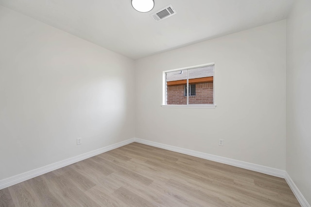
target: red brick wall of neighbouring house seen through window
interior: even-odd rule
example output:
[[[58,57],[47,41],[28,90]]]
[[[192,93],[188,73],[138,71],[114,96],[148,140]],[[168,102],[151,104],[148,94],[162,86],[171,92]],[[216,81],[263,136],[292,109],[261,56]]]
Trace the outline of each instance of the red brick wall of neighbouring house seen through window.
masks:
[[[184,96],[185,85],[167,86],[167,104],[187,104]],[[189,96],[189,104],[214,104],[213,83],[195,85],[195,96]]]

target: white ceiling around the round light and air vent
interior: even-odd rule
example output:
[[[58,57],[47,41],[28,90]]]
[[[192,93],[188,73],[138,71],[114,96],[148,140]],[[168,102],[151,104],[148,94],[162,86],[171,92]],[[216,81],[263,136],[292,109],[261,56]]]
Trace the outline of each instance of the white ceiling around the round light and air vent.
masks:
[[[132,59],[285,19],[294,0],[0,0],[0,5]],[[150,15],[172,4],[176,15]]]

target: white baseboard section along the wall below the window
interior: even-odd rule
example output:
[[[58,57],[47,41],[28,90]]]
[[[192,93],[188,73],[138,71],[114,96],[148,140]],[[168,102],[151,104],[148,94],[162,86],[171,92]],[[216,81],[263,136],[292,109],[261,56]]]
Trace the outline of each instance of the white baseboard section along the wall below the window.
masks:
[[[170,151],[177,152],[177,153],[182,153],[185,155],[196,156],[196,157],[200,157],[203,159],[208,159],[208,160],[212,160],[215,162],[224,163],[227,165],[232,165],[235,167],[239,167],[239,168],[243,168],[243,169],[247,169],[247,170],[251,170],[251,171],[255,171],[255,172],[259,172],[259,173],[265,173],[265,174],[269,174],[269,175],[273,175],[273,176],[281,177],[281,178],[285,177],[285,171],[275,169],[275,168],[270,168],[270,167],[266,167],[266,166],[262,166],[262,165],[243,162],[240,160],[230,159],[230,158],[226,158],[226,157],[222,157],[222,156],[210,155],[207,153],[201,153],[201,152],[197,152],[197,151],[193,151],[193,150],[188,150],[188,149],[184,149],[184,148],[180,148],[180,147],[174,147],[171,145],[161,144],[161,143],[148,141],[148,140],[144,140],[144,139],[139,139],[139,138],[135,138],[135,141],[138,143],[141,143],[141,144],[147,144],[150,146],[162,148],[165,150],[170,150]]]

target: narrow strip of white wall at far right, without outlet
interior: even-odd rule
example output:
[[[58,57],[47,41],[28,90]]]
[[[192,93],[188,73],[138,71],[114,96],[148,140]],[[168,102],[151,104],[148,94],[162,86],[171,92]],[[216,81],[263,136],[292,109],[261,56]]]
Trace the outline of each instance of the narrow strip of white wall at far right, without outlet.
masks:
[[[287,20],[286,171],[311,204],[311,1]]]

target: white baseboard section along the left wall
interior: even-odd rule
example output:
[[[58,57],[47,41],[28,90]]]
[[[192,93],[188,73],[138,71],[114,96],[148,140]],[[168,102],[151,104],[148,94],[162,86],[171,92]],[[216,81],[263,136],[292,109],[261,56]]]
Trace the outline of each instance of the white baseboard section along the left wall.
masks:
[[[28,179],[34,178],[34,177],[39,176],[41,174],[49,173],[49,172],[57,170],[59,168],[71,165],[75,162],[79,162],[79,161],[87,159],[89,157],[102,154],[104,152],[116,149],[116,148],[124,146],[126,144],[130,144],[130,143],[134,142],[135,140],[136,140],[136,138],[127,139],[125,141],[121,141],[119,143],[112,144],[112,145],[109,145],[109,146],[106,146],[106,147],[103,147],[103,148],[100,148],[97,150],[93,150],[91,152],[84,153],[82,155],[77,155],[77,156],[74,156],[74,157],[59,161],[59,162],[55,162],[53,164],[50,164],[50,165],[47,165],[47,166],[44,166],[41,168],[37,168],[35,170],[28,171],[26,173],[21,173],[21,174],[17,174],[17,175],[14,175],[12,177],[9,177],[9,178],[5,178],[3,180],[0,180],[0,190],[7,188],[7,187],[10,187],[10,186],[13,186],[17,183],[26,181]]]

